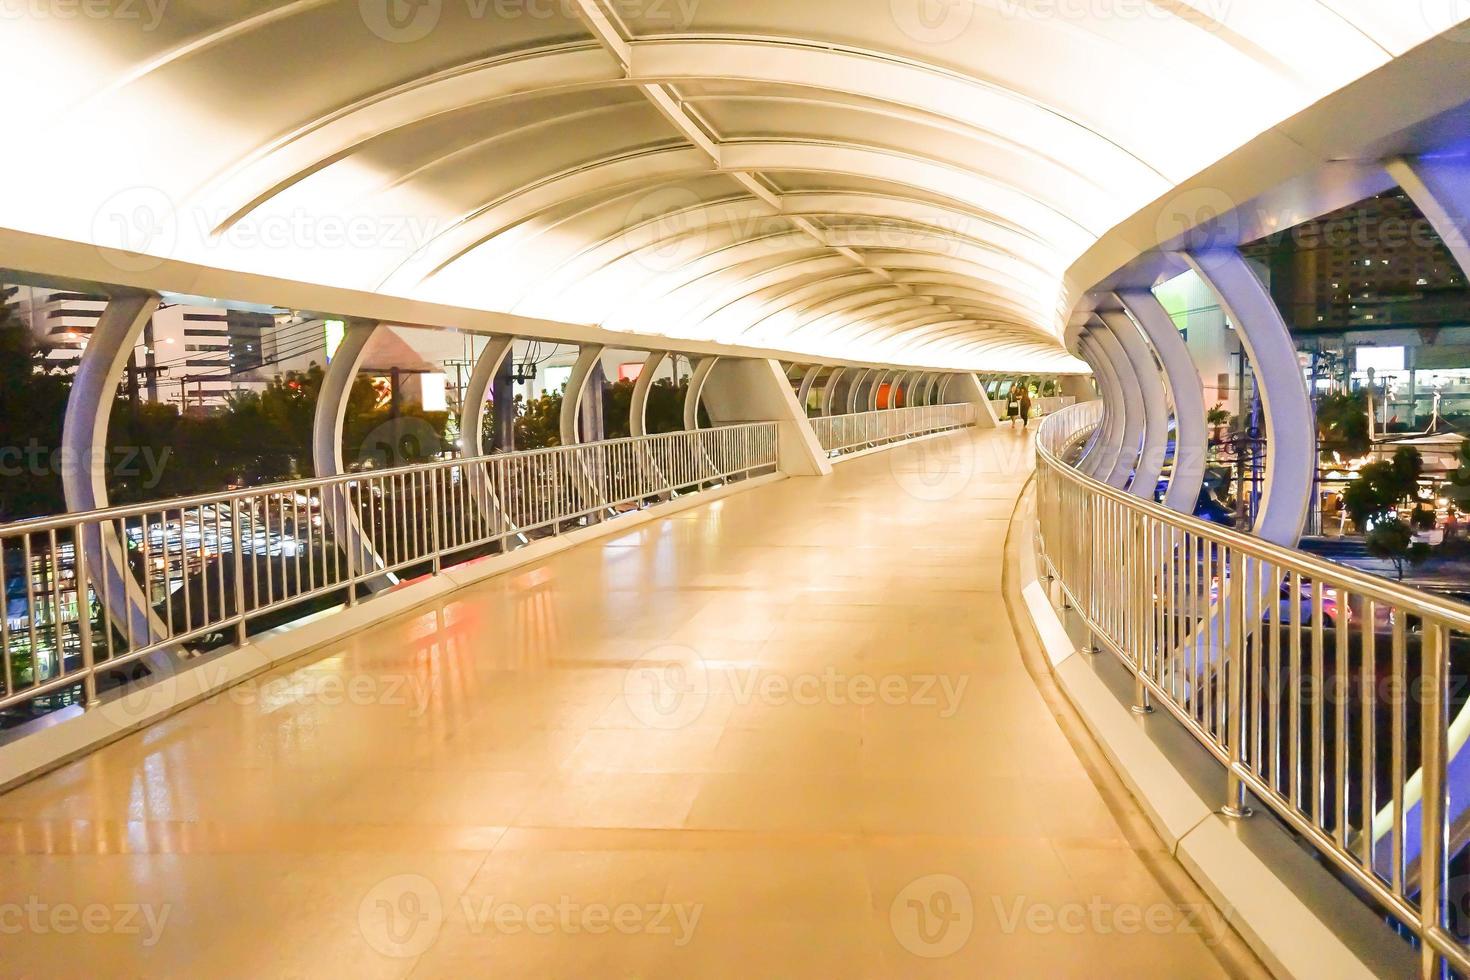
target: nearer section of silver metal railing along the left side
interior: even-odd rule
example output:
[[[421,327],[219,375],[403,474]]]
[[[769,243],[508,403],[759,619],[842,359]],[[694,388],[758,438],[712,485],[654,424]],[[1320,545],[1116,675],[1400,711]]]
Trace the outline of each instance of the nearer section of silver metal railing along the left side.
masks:
[[[775,472],[776,439],[775,423],[735,425],[0,525],[0,710],[90,707],[150,655],[243,644],[395,573]]]

